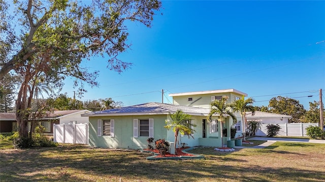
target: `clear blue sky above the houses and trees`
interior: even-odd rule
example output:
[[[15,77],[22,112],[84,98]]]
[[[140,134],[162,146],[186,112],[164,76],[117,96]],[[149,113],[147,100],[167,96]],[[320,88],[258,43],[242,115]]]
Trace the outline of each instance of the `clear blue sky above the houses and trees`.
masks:
[[[170,93],[235,88],[256,106],[283,96],[309,109],[325,89],[325,1],[163,1],[152,28],[128,30],[132,47],[119,58],[133,67],[118,74],[101,57],[85,61],[100,86],[80,100],[161,102],[164,89],[171,103]],[[67,80],[62,92],[73,90]]]

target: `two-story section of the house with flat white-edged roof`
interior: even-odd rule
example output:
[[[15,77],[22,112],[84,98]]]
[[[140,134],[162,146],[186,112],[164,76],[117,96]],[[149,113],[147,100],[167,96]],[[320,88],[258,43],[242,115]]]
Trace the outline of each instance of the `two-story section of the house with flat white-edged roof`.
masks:
[[[222,97],[226,97],[227,103],[233,103],[234,101],[241,99],[243,96],[247,97],[246,93],[240,92],[236,89],[218,89],[218,90],[207,90],[207,91],[199,91],[199,92],[186,92],[186,93],[176,93],[169,94],[169,96],[173,97],[174,105],[181,106],[191,106],[191,107],[200,107],[205,109],[210,109],[210,103],[214,100],[221,100]],[[237,117],[237,123],[233,123],[232,127],[236,128],[237,133],[236,137],[242,134],[242,117],[239,112],[234,113]],[[203,127],[207,130],[213,131],[213,125],[211,123],[206,123],[206,120],[202,121]],[[218,125],[218,124],[217,124]],[[227,127],[227,126],[224,126]],[[228,126],[230,127],[230,126]],[[203,134],[204,136],[205,134]]]

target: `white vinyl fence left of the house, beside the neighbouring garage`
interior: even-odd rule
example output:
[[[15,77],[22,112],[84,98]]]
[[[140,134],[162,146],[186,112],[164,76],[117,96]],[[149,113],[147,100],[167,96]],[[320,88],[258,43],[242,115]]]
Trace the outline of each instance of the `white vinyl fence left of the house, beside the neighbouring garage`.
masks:
[[[53,141],[63,144],[88,144],[88,124],[54,124]]]

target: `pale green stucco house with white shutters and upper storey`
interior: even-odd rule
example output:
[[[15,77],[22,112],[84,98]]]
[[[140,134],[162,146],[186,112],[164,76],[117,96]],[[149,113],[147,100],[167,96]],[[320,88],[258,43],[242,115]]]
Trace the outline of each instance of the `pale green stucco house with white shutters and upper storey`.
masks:
[[[222,97],[228,97],[227,102],[233,102],[247,94],[235,89],[210,90],[170,94],[173,104],[145,103],[118,109],[82,114],[89,117],[89,145],[92,147],[145,149],[149,137],[155,140],[165,139],[174,141],[174,132],[167,130],[166,119],[169,113],[182,110],[191,115],[197,127],[192,138],[180,136],[180,143],[188,146],[221,146],[220,122],[215,116],[210,122],[207,115],[210,112],[210,102]],[[239,120],[240,115],[237,117]],[[240,123],[240,121],[239,121]],[[224,128],[233,126],[232,119],[225,118]],[[230,136],[230,129],[228,129]],[[230,140],[230,137],[224,138]]]

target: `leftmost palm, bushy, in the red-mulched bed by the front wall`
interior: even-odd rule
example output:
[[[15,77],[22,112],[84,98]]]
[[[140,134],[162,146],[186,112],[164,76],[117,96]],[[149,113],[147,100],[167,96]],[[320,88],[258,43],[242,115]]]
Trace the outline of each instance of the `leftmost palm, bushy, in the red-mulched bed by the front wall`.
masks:
[[[187,135],[188,138],[191,136],[193,139],[194,137],[191,135],[195,132],[195,130],[192,127],[196,127],[196,124],[191,123],[191,116],[188,114],[183,113],[181,110],[177,110],[174,114],[169,113],[169,117],[171,119],[166,119],[166,126],[168,130],[173,128],[173,131],[175,132],[175,154],[177,154],[176,150],[176,143],[178,134],[181,133],[183,135]]]

